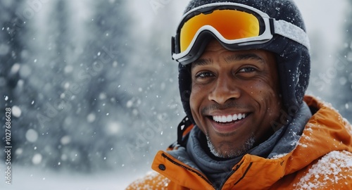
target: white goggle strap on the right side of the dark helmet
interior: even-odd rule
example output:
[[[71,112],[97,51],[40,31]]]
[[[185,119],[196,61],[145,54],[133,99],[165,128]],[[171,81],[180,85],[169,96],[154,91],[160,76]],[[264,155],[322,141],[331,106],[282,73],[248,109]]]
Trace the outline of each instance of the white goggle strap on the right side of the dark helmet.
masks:
[[[308,50],[310,49],[308,35],[303,29],[301,29],[301,27],[285,20],[274,20],[274,33],[292,39],[295,42],[306,46]]]

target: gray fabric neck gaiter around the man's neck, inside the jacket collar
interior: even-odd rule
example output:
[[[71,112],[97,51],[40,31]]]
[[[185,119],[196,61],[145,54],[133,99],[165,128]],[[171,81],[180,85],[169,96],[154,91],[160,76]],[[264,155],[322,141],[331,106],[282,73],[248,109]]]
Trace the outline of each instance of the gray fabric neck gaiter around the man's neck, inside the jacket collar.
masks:
[[[308,106],[306,103],[302,103],[298,113],[287,126],[281,127],[268,140],[251,148],[247,153],[263,158],[273,158],[277,155],[289,153],[296,147],[310,117],[311,113]],[[206,138],[198,127],[194,127],[190,132],[186,147],[189,159],[215,186],[220,186],[227,179],[232,167],[239,163],[243,156],[228,160],[215,160],[214,156],[210,156],[209,151],[204,150],[204,145],[201,144],[207,144]]]

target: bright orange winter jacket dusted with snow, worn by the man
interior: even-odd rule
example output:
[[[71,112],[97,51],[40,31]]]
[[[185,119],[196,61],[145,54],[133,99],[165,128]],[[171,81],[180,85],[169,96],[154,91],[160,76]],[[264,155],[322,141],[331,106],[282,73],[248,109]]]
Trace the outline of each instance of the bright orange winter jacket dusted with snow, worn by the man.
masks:
[[[318,111],[293,151],[277,158],[245,155],[222,189],[352,189],[352,127],[334,108],[312,96]],[[159,151],[153,172],[127,189],[215,189],[206,175]],[[158,173],[157,173],[158,172]]]

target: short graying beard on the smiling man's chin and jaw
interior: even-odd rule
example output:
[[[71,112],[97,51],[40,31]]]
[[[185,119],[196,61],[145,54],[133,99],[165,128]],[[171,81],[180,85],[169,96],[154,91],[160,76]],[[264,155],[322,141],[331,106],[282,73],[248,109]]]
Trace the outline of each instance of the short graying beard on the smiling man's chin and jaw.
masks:
[[[251,137],[247,139],[242,146],[237,149],[231,149],[230,151],[221,151],[219,147],[215,147],[211,142],[210,137],[206,135],[206,140],[208,142],[208,147],[210,148],[210,152],[213,153],[214,156],[218,158],[235,158],[243,155],[255,144],[256,140],[254,139],[254,134],[251,134]]]

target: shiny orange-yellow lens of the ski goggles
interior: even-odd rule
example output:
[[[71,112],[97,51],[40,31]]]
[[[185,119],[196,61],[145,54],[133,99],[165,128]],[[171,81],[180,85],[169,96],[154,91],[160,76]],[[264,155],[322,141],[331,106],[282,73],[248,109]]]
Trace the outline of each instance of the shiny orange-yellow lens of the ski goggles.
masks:
[[[180,52],[188,48],[199,29],[205,25],[214,27],[229,40],[260,35],[260,23],[255,15],[238,10],[215,10],[195,15],[184,23],[180,30]]]

